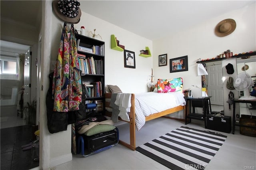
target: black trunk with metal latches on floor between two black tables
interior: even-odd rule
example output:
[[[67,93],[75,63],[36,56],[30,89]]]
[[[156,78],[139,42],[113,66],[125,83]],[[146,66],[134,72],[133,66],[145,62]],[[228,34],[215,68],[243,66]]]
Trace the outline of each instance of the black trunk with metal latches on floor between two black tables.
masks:
[[[230,116],[217,117],[213,114],[208,114],[206,116],[206,127],[211,130],[230,133],[231,117]]]

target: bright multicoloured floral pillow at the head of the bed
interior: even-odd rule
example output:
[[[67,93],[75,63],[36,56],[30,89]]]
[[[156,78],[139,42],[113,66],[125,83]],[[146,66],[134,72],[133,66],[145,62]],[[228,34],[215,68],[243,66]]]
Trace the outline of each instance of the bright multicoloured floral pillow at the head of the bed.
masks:
[[[158,93],[181,92],[183,89],[183,79],[181,77],[174,79],[158,79]]]

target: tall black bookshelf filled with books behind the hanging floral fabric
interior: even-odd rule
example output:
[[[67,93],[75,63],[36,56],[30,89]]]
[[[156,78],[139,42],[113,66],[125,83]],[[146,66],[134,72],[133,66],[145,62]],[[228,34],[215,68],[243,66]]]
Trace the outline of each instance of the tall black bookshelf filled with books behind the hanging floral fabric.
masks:
[[[105,43],[76,34],[79,67],[82,84],[86,87],[86,104],[96,103],[97,110],[104,114],[105,95]]]

